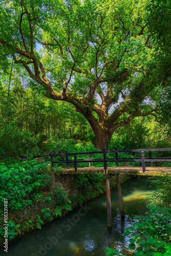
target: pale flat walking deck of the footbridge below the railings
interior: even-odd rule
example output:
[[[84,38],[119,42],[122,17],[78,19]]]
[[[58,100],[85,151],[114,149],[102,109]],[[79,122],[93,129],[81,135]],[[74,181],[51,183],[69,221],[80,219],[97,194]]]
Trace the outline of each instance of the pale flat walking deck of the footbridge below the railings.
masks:
[[[171,173],[171,167],[146,167],[146,172],[142,172],[142,167],[117,166],[108,167],[106,174],[129,174],[140,176],[158,176],[162,172]],[[60,174],[105,174],[104,167],[83,167],[78,168],[75,172],[74,168],[63,168]]]

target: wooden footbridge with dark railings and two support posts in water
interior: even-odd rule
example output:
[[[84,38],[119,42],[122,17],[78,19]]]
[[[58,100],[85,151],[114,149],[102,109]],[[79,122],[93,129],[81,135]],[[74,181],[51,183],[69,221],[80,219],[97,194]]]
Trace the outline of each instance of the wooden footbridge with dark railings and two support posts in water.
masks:
[[[171,162],[171,157],[154,157],[152,153],[155,152],[170,152],[171,148],[151,148],[151,149],[140,149],[140,150],[118,150],[115,147],[115,150],[107,151],[106,148],[103,148],[103,151],[93,151],[93,152],[79,152],[79,153],[61,153],[34,156],[34,158],[50,157],[51,167],[54,168],[54,163],[60,164],[60,166],[66,165],[60,169],[60,174],[103,174],[106,179],[106,199],[107,199],[107,215],[108,215],[108,228],[112,228],[112,211],[111,211],[111,192],[110,192],[110,176],[116,176],[116,183],[119,196],[119,205],[121,217],[124,218],[124,208],[123,200],[121,193],[121,186],[119,180],[119,174],[129,174],[129,175],[149,175],[149,176],[158,176],[163,172],[171,172],[171,167],[154,167],[154,162]],[[120,153],[132,153],[132,157],[119,157]],[[99,155],[101,158],[92,158],[92,155]],[[134,157],[139,154],[139,156]],[[88,158],[81,159],[81,155],[88,155]],[[171,154],[170,154],[171,155]],[[109,157],[110,156],[110,157]],[[27,156],[23,156],[27,159]],[[56,161],[54,158],[60,158]],[[101,167],[92,167],[92,163],[102,162],[103,166]],[[132,166],[119,166],[119,163],[122,162],[140,162],[142,165],[140,167]],[[145,163],[149,163],[149,166],[146,166]],[[78,167],[79,163],[88,163],[89,167]],[[109,163],[116,163],[116,166],[109,166]],[[74,165],[74,167],[69,167],[69,164]]]

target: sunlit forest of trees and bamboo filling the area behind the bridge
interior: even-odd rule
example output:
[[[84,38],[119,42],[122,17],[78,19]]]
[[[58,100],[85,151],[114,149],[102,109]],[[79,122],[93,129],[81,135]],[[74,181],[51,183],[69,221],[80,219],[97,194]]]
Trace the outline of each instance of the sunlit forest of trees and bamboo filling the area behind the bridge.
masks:
[[[1,158],[170,147],[169,1],[1,8]]]

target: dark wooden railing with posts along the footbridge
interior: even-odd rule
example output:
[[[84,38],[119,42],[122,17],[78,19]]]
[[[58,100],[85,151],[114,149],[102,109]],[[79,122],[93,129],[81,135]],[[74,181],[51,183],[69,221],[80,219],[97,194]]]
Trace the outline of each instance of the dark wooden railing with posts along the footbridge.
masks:
[[[162,151],[171,151],[171,148],[148,148],[148,149],[139,149],[139,150],[118,150],[115,147],[115,150],[108,151],[106,148],[103,148],[103,151],[92,151],[92,152],[78,152],[78,153],[61,153],[54,154],[51,152],[49,155],[40,155],[35,156],[33,158],[41,158],[41,157],[50,157],[51,167],[54,167],[54,163],[66,163],[67,167],[69,167],[70,163],[74,163],[75,172],[77,171],[78,163],[89,163],[89,167],[93,162],[103,162],[104,170],[108,169],[108,162],[115,162],[116,166],[119,166],[119,162],[142,162],[142,171],[145,172],[145,163],[149,162],[150,166],[153,167],[153,162],[171,162],[171,157],[152,157],[152,152],[162,152]],[[141,157],[119,157],[118,153],[141,153]],[[149,157],[145,157],[145,152],[148,152]],[[115,153],[115,157],[108,158],[107,154]],[[91,158],[94,154],[102,154],[102,158]],[[77,159],[78,155],[88,155],[88,158]],[[54,157],[59,156],[60,161],[54,161]],[[69,156],[74,156],[74,159],[69,159]],[[63,160],[62,158],[66,158]],[[23,156],[23,158],[27,159],[27,156]]]

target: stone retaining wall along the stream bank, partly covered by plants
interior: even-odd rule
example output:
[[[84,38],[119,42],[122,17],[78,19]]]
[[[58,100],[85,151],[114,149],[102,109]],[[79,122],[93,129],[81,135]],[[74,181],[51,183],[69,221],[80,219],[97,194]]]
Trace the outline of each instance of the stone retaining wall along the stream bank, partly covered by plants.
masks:
[[[74,188],[73,184],[76,181],[76,175],[58,175],[58,174],[51,174],[51,187],[63,187],[63,190],[67,191],[68,196],[75,196],[77,197],[78,193],[81,192],[81,188]],[[121,183],[123,183],[126,180],[129,180],[131,177],[129,176],[124,176],[121,175],[120,176],[120,180]],[[115,182],[115,176],[111,177],[111,188],[116,186],[116,182]],[[101,186],[104,188],[105,187],[105,180],[101,183]],[[104,191],[104,190],[103,190]],[[102,193],[99,193],[98,195],[100,195]],[[35,217],[37,215],[41,216],[41,210],[45,209],[45,208],[49,208],[51,212],[53,212],[53,210],[56,208],[56,205],[52,205],[51,203],[41,203],[41,202],[37,202],[33,205],[30,205],[24,209],[20,209],[20,210],[10,210],[8,212],[8,221],[14,221],[15,224],[19,224],[20,227],[22,227],[22,225],[25,225],[25,223],[29,223],[30,221],[30,225],[26,224],[25,229],[21,232],[20,231],[20,227],[18,228],[18,231],[16,231],[17,235],[15,238],[23,236],[25,233],[33,230],[33,228],[36,228],[36,219]],[[68,214],[67,210],[63,210],[63,215]],[[56,217],[53,216],[53,218],[55,219]],[[44,223],[49,222],[49,220],[41,218]],[[0,220],[0,227],[3,225],[4,220]],[[4,239],[0,242],[0,246],[3,244]]]

